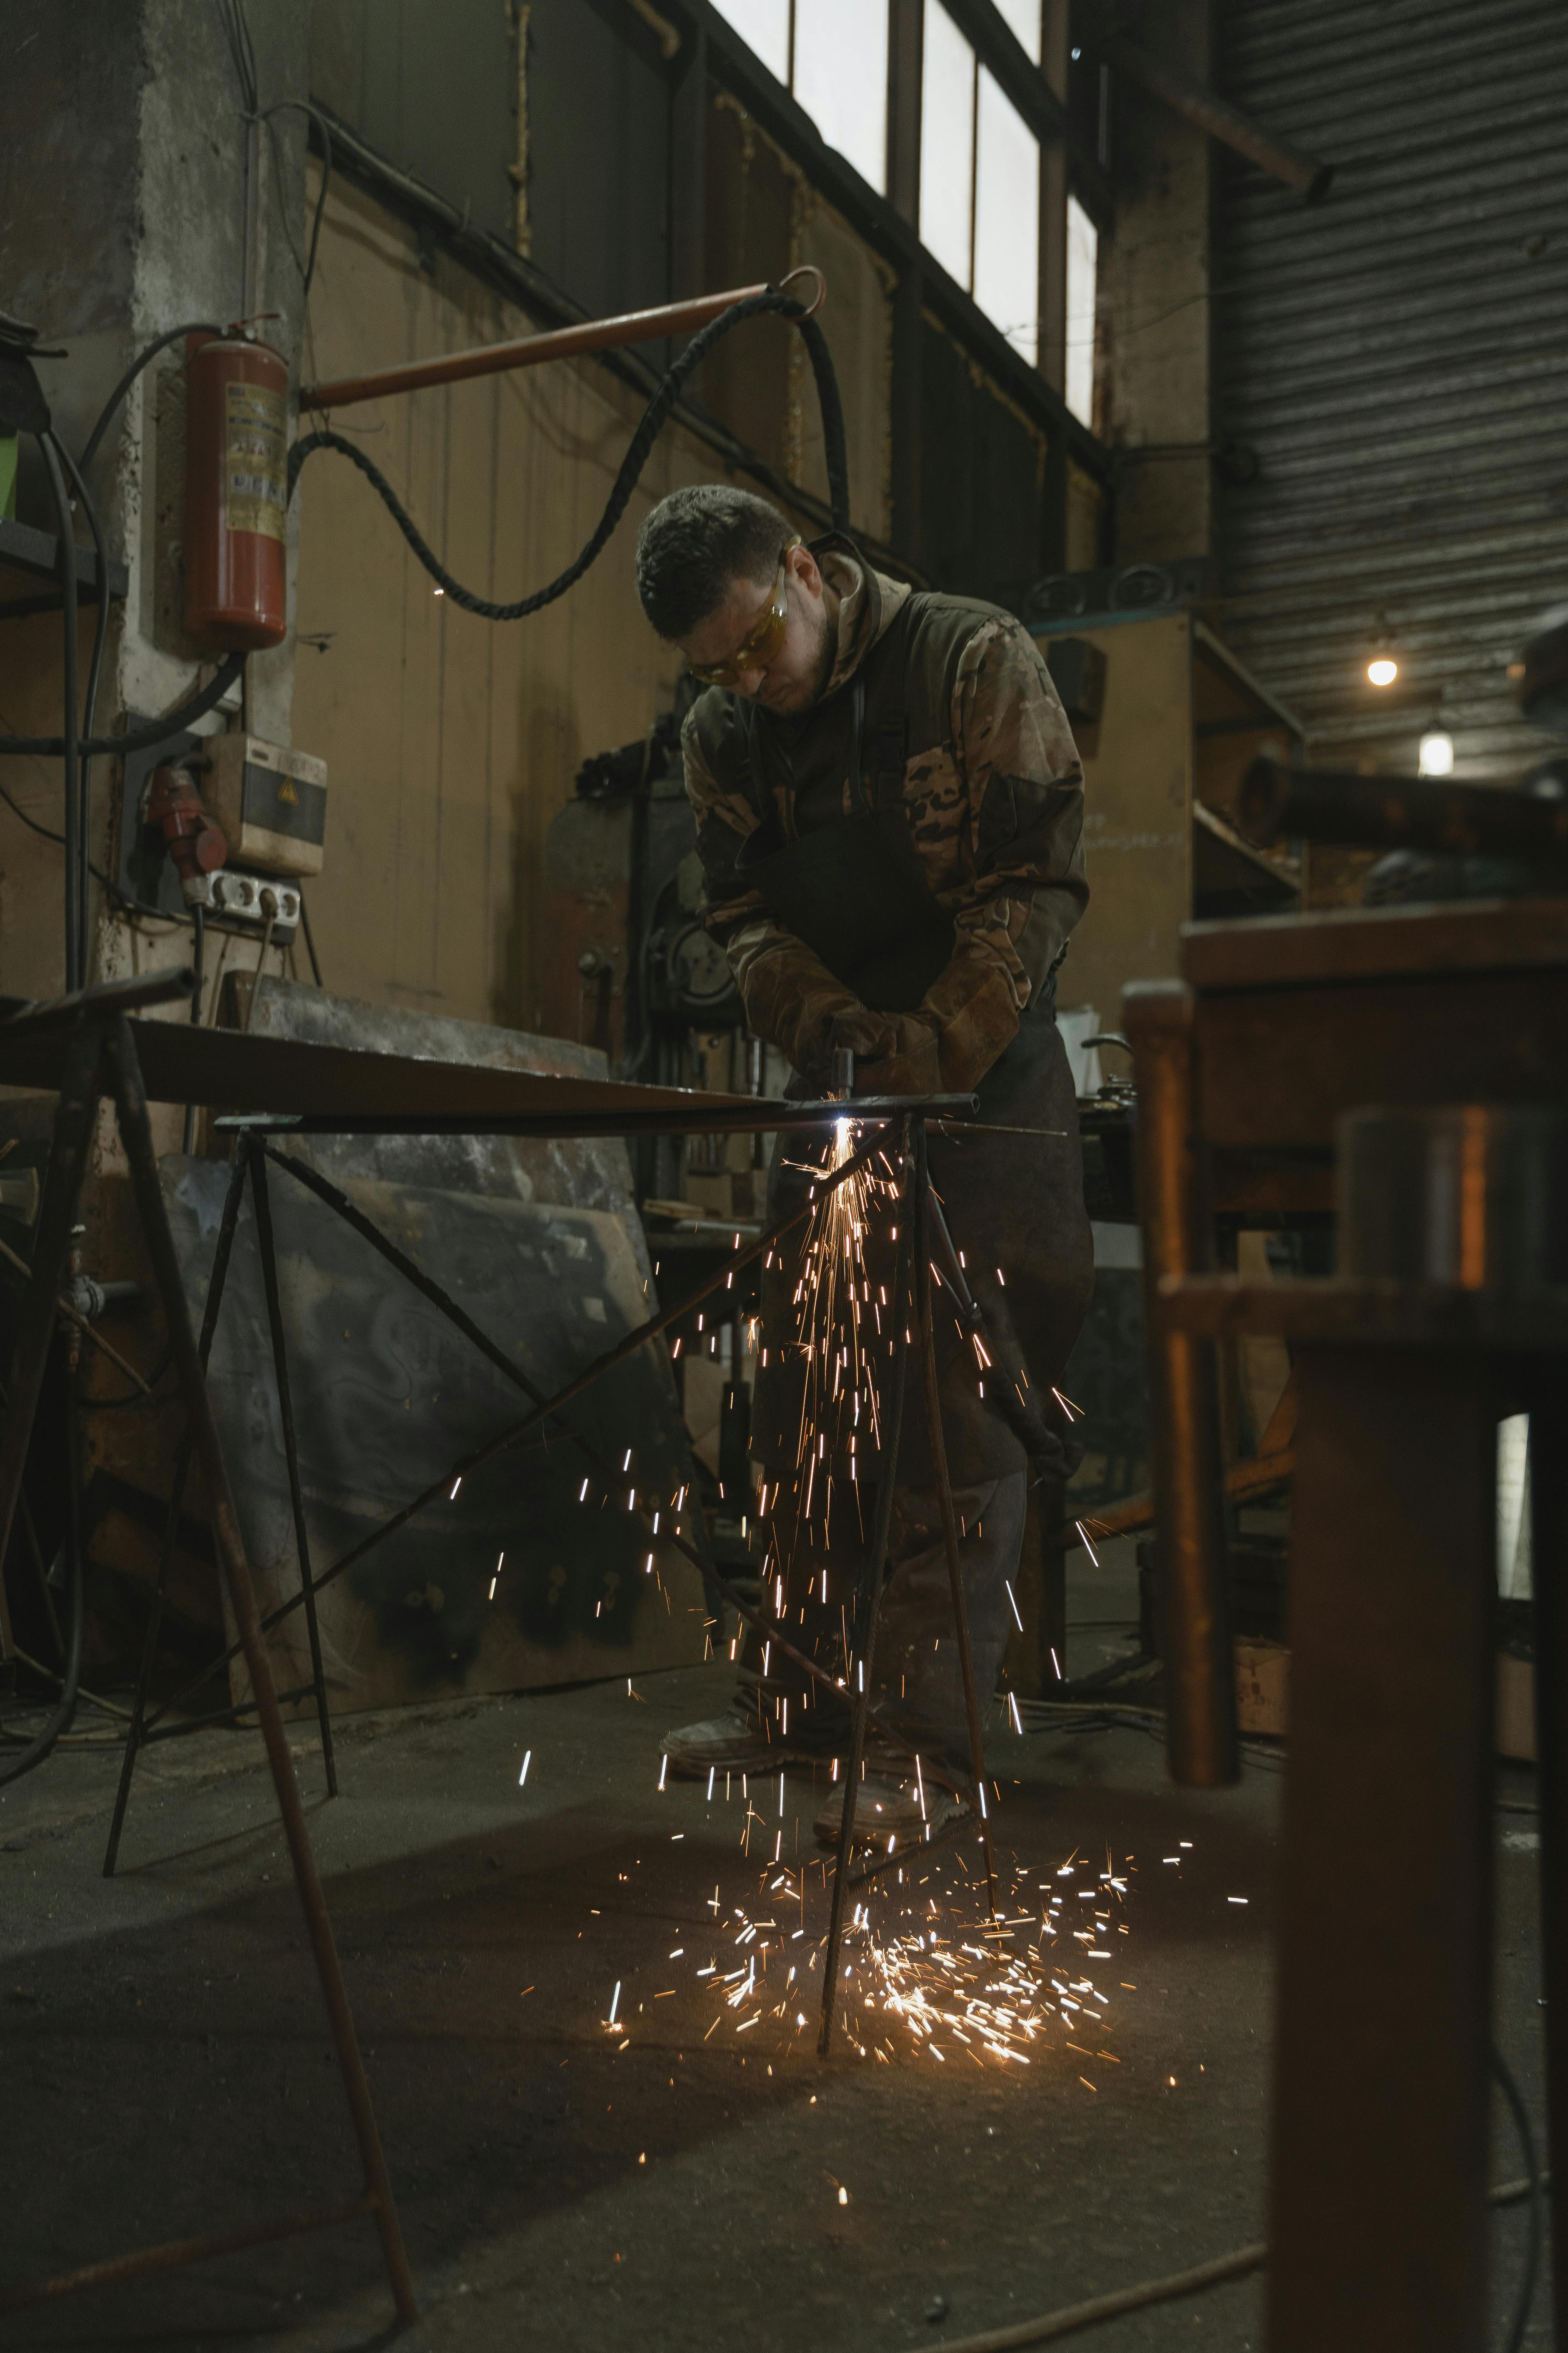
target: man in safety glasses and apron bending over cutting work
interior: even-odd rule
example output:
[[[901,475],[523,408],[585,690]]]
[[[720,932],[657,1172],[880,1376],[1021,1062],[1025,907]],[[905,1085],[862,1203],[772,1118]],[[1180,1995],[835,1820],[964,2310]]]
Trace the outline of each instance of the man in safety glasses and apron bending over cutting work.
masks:
[[[1077,1101],[1056,1028],[1056,967],[1088,899],[1072,732],[1034,640],[1009,614],[912,593],[844,539],[809,548],[743,489],[663,499],[637,539],[637,588],[658,635],[708,687],[682,732],[705,920],[752,1031],[790,1056],[792,1092],[823,1094],[835,1049],[849,1047],[858,1094],[978,1092],[994,1129],[931,1136],[931,1179],[985,1311],[987,1353],[1023,1360],[1030,1388],[1018,1407],[1023,1384],[997,1374],[985,1398],[969,1334],[938,1315],[966,1614],[987,1704],[1011,1626],[1030,1464],[1063,1461],[1041,1400],[1051,1405],[1093,1289]],[[776,1155],[769,1221],[804,1198],[799,1160],[799,1146]],[[809,1428],[804,1452],[820,1457],[823,1478],[802,1471],[799,1271],[797,1231],[762,1292],[752,1428],[776,1548],[766,1593],[776,1607],[783,1598],[790,1640],[846,1675],[870,1525],[858,1489],[875,1447],[858,1424],[849,1440],[842,1428]],[[891,1266],[879,1266],[877,1282],[886,1280]],[[858,1459],[846,1459],[846,1442],[851,1457],[860,1445]],[[825,1525],[835,1464],[839,1501]],[[907,1781],[893,1744],[870,1751],[858,1821],[879,1838],[952,1809],[940,1781],[971,1762],[919,1377],[907,1386],[896,1480],[872,1689],[879,1713],[922,1746],[924,1779]],[[745,1668],[731,1715],[665,1739],[677,1772],[842,1753],[844,1708],[823,1706],[820,1685],[776,1642],[750,1640]],[[818,1817],[820,1838],[837,1835],[835,1798],[842,1791]]]

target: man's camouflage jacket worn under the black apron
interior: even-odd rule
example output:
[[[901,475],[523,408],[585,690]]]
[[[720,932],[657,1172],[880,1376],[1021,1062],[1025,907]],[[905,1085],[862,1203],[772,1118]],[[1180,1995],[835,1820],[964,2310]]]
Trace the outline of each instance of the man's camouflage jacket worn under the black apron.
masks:
[[[802,720],[755,720],[778,748],[762,788],[785,838],[849,814],[853,734],[842,689],[910,598],[907,586],[846,551],[820,551],[818,560],[839,593],[827,689]],[[924,880],[952,918],[954,951],[907,1014],[860,1005],[736,871],[759,824],[741,699],[710,687],[682,729],[703,915],[752,1031],[813,1082],[835,1047],[851,1047],[856,1087],[867,1094],[978,1085],[1088,904],[1084,772],[1039,647],[1009,614],[966,598],[922,598],[910,619],[903,807]]]

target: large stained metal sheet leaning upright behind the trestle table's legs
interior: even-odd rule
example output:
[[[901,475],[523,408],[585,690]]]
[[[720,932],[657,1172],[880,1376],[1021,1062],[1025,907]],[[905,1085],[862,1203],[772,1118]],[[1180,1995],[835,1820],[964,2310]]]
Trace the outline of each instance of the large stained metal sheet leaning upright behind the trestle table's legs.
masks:
[[[162,1162],[193,1313],[205,1306],[226,1184],[219,1162]],[[343,1191],[545,1393],[646,1313],[644,1278],[616,1217],[407,1184],[353,1181]],[[515,1421],[520,1400],[313,1193],[277,1172],[270,1195],[320,1574],[447,1464]],[[266,1612],[299,1591],[299,1567],[249,1198],[207,1386]],[[656,1351],[607,1374],[562,1419],[592,1438],[614,1471],[630,1449],[628,1487],[668,1497],[689,1478],[675,1381]],[[649,1544],[623,1494],[599,1508],[595,1485],[578,1504],[583,1475],[567,1442],[498,1457],[327,1586],[320,1626],[334,1711],[701,1659],[698,1572],[663,1541]],[[303,1612],[273,1642],[280,1687],[308,1682]]]

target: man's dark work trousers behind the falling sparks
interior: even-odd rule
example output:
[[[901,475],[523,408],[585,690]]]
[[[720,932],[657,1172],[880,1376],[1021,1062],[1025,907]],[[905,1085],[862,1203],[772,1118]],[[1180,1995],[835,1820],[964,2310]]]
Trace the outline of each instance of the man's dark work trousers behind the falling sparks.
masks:
[[[1037,1400],[1048,1400],[1063,1379],[1093,1292],[1077,1096],[1048,1002],[1025,1016],[1020,1035],[987,1073],[980,1087],[980,1115],[997,1122],[999,1132],[992,1136],[931,1132],[931,1181],[987,1325],[1011,1327]],[[1046,1134],[1001,1132],[1020,1127]],[[776,1153],[769,1224],[788,1217],[804,1198],[806,1179],[785,1165],[802,1158],[799,1144],[785,1144]],[[882,1257],[889,1261],[886,1273],[879,1268]],[[884,1245],[879,1259],[875,1280],[889,1280],[891,1245]],[[795,1492],[799,1386],[788,1351],[778,1346],[778,1334],[788,1339],[795,1329],[797,1268],[799,1259],[785,1252],[783,1261],[764,1273],[762,1285],[769,1365],[757,1379],[752,1426],[769,1480],[771,1558],[764,1602],[783,1619],[799,1649],[835,1678],[844,1678],[844,1661],[860,1654],[853,1612],[856,1595],[865,1586],[865,1546],[882,1466],[863,1457],[860,1482],[837,1487],[823,1541],[820,1506],[804,1520],[802,1497]],[[994,1379],[992,1398],[980,1393],[973,1348],[943,1306],[940,1292],[933,1292],[933,1320],[976,1692],[985,1706],[997,1687],[1013,1624],[1006,1588],[1018,1572],[1027,1482],[1037,1468],[1011,1424],[997,1412]],[[778,1487],[776,1501],[773,1487]],[[757,1635],[748,1635],[741,1657],[743,1694],[764,1713],[773,1737],[825,1753],[842,1744],[849,1692],[835,1701],[832,1692]],[[898,1452],[889,1581],[882,1595],[872,1689],[900,1729],[931,1739],[954,1762],[969,1758],[919,1351],[910,1353],[907,1365],[905,1435]]]

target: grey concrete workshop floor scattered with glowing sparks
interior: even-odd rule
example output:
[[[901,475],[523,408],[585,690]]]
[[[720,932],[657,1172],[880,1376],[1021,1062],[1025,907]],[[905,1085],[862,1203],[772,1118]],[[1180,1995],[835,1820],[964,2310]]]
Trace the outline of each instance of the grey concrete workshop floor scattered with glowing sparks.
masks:
[[[1126,1588],[1117,1558],[1084,1569],[1072,1617],[1126,1617]],[[1119,1640],[1079,1633],[1074,1671]],[[1079,1962],[1110,1993],[1098,2031],[1048,2019],[1016,2066],[952,2035],[940,2064],[893,2026],[891,2064],[844,2045],[823,2068],[820,1979],[797,2033],[792,1998],[785,2019],[741,2028],[757,2000],[731,2012],[696,1977],[738,1965],[736,1908],[776,1922],[741,1955],[769,1937],[771,2012],[802,1911],[769,1892],[766,1861],[780,1831],[792,1871],[797,1842],[811,1852],[809,1774],[785,1784],[783,1824],[778,1784],[752,1786],[750,1859],[738,1786],[729,1802],[701,1784],[658,1793],[661,1732],[724,1692],[722,1668],[693,1668],[635,1697],[618,1682],[346,1720],[331,1805],[299,1729],[425,2315],[400,2344],[936,2348],[1260,2238],[1276,1765],[1194,1798],[1138,1732],[999,1729],[1009,1875],[1056,1887],[1070,1857],[1103,1868],[1110,1849],[1128,1880],[1095,1946],[1110,1960]],[[0,1793],[0,2285],[357,2186],[259,1744],[153,1751],[103,1882],[115,1769],[71,1751]],[[1526,1774],[1509,1798],[1528,1800]],[[1526,1812],[1497,1821],[1497,2035],[1540,2118],[1533,1828]],[[957,1854],[976,1864],[971,1845]],[[936,1897],[950,1944],[973,1939],[961,1864],[919,1868],[922,1915]],[[825,1925],[809,1880],[795,1953]],[[884,1932],[907,1894],[882,1899]],[[870,2026],[863,2000],[856,2014]],[[1502,2115],[1495,2134],[1493,2177],[1519,2174]],[[1502,2308],[1521,2209],[1495,2245]],[[374,2231],[355,2221],[28,2311],[5,2344],[336,2353],[386,2341],[388,2311]],[[1547,2341],[1542,2287],[1526,2344]],[[1093,2344],[1260,2346],[1260,2285]]]

